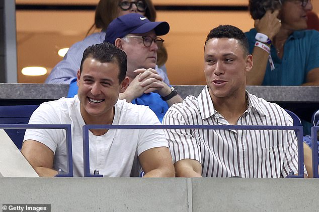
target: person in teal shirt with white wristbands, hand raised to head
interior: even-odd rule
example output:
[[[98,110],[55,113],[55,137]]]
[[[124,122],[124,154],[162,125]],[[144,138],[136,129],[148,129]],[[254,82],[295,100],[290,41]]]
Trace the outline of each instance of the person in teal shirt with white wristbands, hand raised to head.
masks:
[[[250,0],[255,28],[248,85],[319,85],[319,32],[307,29],[311,0]]]

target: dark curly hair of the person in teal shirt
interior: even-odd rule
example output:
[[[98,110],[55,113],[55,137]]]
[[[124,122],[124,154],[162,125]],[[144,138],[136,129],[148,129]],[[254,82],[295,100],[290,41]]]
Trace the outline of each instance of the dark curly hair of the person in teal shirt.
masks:
[[[254,20],[261,19],[268,10],[280,10],[285,0],[249,0],[249,12]]]

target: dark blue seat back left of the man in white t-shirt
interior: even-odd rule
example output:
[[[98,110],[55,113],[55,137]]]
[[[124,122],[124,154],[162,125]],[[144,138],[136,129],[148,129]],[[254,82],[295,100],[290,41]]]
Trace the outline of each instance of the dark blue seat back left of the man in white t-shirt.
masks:
[[[28,124],[38,105],[0,106],[0,124]],[[25,129],[5,129],[11,140],[21,149]]]

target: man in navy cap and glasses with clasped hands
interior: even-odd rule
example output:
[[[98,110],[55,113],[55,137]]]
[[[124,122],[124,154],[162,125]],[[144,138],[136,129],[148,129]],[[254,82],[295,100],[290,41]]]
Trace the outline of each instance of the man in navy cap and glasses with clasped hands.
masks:
[[[183,101],[174,87],[164,83],[155,71],[157,50],[164,42],[157,36],[166,35],[169,31],[170,25],[167,22],[150,22],[139,14],[127,14],[110,23],[104,41],[114,44],[127,54],[126,76],[129,78],[129,86],[119,98],[149,106],[160,121],[172,104]],[[77,88],[70,85],[68,96],[76,92]]]

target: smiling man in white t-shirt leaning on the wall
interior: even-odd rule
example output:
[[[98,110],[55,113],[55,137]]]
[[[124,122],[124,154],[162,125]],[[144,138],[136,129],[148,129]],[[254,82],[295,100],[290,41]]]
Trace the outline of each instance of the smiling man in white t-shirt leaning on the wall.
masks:
[[[118,100],[128,86],[126,54],[107,43],[88,47],[77,72],[78,95],[45,102],[29,124],[70,124],[73,175],[83,176],[82,127],[85,124],[160,124],[146,106]],[[172,157],[163,130],[89,131],[90,172],[112,177],[174,177]],[[66,170],[66,139],[62,129],[27,129],[21,152],[40,176]]]

